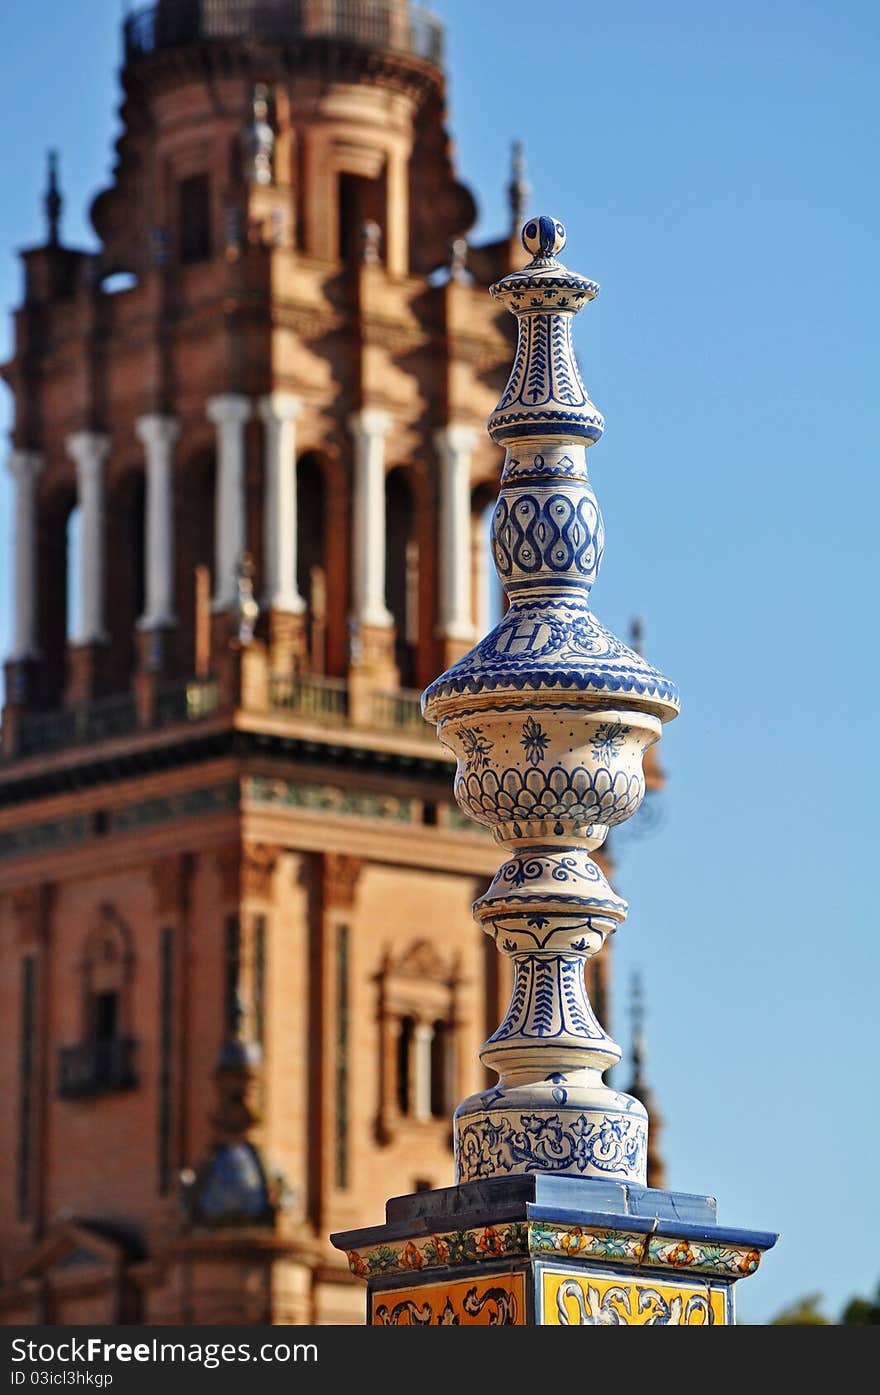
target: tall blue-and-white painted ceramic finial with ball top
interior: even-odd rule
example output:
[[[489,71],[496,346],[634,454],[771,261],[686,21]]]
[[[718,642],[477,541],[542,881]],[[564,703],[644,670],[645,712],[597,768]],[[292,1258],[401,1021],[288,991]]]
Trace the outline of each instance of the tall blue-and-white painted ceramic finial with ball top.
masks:
[[[480,1052],[498,1084],[456,1109],[456,1180],[554,1172],[644,1184],[647,1115],[602,1080],[621,1050],[584,986],[626,903],[590,854],[642,804],[643,756],[678,692],[590,611],[604,527],[587,449],[604,421],[572,318],[598,286],[556,261],[556,219],[531,219],[523,243],[531,262],[491,287],[519,321],[488,421],[506,446],[492,558],[510,605],[423,696],[456,756],[460,808],[508,852],[474,915],[513,960],[513,992]]]

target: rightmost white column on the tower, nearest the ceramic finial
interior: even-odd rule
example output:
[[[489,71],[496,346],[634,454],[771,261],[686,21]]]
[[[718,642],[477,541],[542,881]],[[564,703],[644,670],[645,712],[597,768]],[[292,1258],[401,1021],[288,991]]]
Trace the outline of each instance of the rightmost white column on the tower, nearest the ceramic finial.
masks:
[[[448,425],[434,435],[441,459],[441,615],[446,639],[474,638],[470,571],[470,458],[473,427]]]

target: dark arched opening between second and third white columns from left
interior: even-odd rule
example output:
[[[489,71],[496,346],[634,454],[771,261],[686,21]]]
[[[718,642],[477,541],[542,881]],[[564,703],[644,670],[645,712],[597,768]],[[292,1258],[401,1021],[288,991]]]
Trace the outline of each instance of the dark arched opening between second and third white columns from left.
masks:
[[[126,470],[109,499],[112,531],[107,547],[107,629],[113,643],[109,685],[116,692],[130,686],[135,668],[135,628],[144,614],[146,487],[141,469]]]

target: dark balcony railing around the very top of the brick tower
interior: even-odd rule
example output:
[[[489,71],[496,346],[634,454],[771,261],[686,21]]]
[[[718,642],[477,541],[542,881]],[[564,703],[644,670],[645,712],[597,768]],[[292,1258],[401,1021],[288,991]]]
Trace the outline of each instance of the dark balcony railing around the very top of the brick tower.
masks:
[[[124,25],[126,61],[211,39],[346,39],[410,53],[441,67],[443,27],[400,0],[177,0],[135,10]]]

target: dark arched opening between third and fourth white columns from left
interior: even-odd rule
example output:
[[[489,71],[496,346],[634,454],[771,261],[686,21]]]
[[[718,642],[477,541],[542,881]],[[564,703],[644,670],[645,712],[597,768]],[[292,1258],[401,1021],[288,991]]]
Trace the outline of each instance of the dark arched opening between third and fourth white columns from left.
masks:
[[[179,520],[174,608],[177,667],[184,677],[206,677],[213,591],[215,453],[194,455],[177,477],[174,516]]]

